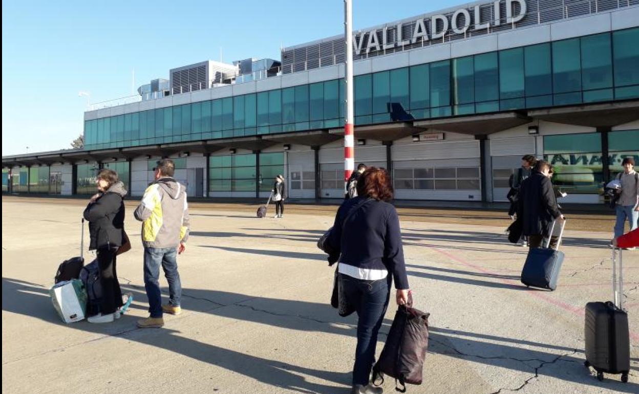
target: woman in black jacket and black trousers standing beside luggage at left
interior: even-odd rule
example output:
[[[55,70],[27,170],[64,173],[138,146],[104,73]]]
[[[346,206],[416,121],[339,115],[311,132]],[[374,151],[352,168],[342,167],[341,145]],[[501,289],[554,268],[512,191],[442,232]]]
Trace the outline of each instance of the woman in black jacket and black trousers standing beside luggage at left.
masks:
[[[117,319],[123,305],[116,273],[116,250],[125,241],[123,198],[127,190],[118,181],[118,173],[110,169],[100,170],[96,183],[98,193],[91,197],[84,209],[84,219],[89,222],[89,249],[96,250],[97,254],[102,300],[100,314],[89,316],[88,321],[102,323]]]

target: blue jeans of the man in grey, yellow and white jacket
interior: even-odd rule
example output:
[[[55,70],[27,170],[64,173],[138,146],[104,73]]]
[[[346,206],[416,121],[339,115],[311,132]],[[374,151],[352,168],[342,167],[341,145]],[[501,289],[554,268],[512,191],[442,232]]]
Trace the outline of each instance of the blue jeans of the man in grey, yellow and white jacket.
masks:
[[[182,285],[178,273],[178,248],[144,248],[144,289],[149,299],[151,317],[162,317],[162,291],[160,291],[160,265],[169,282],[169,304],[180,306]]]

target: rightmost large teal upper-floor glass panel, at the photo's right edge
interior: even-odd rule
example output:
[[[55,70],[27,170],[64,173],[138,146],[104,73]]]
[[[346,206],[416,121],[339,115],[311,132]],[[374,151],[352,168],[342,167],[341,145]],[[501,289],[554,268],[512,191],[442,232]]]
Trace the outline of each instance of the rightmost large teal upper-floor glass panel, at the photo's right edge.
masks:
[[[612,33],[615,86],[639,85],[639,27]]]

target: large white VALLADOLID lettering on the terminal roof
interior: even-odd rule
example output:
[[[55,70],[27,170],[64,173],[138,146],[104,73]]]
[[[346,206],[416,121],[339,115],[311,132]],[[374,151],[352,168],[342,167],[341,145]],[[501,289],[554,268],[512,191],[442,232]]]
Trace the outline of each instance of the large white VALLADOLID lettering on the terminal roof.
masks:
[[[369,53],[373,50],[387,50],[394,47],[403,47],[416,43],[419,40],[424,42],[437,40],[452,31],[456,34],[465,34],[467,31],[476,31],[481,29],[489,29],[491,26],[500,26],[502,24],[502,7],[505,2],[505,23],[514,24],[519,22],[526,15],[527,5],[525,0],[497,0],[493,5],[493,19],[482,20],[481,10],[485,9],[487,4],[479,4],[473,8],[460,8],[454,11],[450,17],[447,15],[432,15],[427,18],[420,18],[414,24],[413,34],[404,36],[404,24],[399,23],[397,26],[385,26],[383,29],[374,29],[371,31],[363,31],[353,34],[353,46],[355,54],[359,55],[362,51]],[[381,33],[381,42],[380,34]],[[367,39],[366,39],[367,37]],[[366,41],[366,45],[364,42]]]

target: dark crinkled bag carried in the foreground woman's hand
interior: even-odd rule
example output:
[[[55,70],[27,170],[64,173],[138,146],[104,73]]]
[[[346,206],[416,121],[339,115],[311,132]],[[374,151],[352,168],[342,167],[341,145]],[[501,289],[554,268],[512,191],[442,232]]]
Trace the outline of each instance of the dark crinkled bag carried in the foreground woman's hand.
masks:
[[[382,374],[394,377],[395,390],[406,392],[406,383],[422,384],[424,358],[428,350],[428,317],[430,314],[401,305],[395,313],[389,336],[373,367],[373,383],[384,383]],[[381,379],[377,384],[376,380]],[[397,381],[403,387],[397,387]]]

